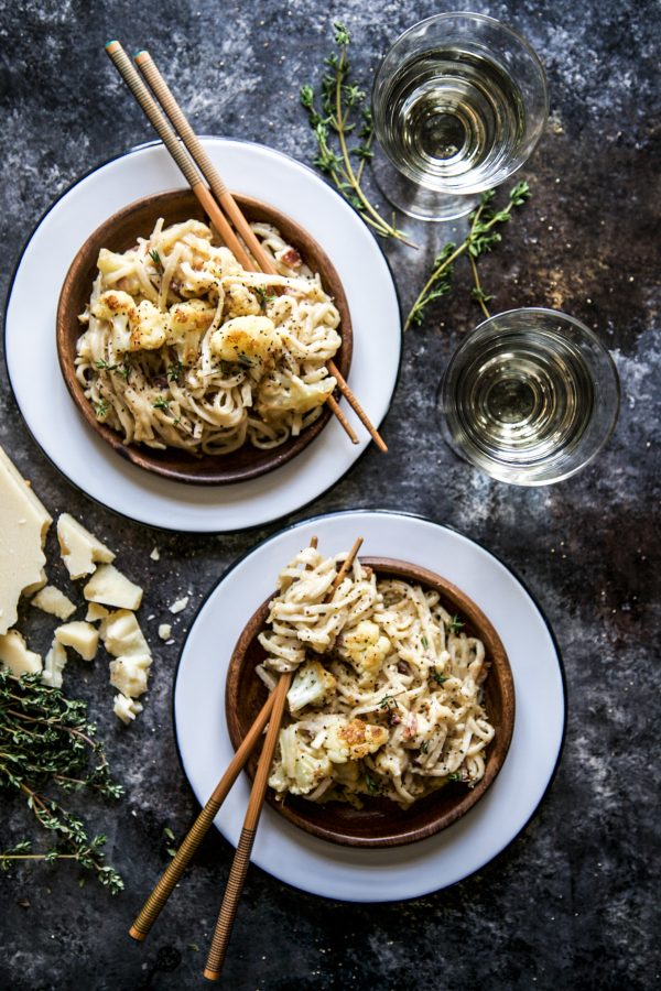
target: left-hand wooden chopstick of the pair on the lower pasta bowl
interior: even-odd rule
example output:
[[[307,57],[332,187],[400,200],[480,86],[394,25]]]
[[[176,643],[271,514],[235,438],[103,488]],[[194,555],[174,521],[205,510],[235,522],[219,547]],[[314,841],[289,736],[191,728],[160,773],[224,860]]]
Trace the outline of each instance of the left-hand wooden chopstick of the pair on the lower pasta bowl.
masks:
[[[191,858],[208,832],[218,814],[218,809],[227,798],[239,772],[243,769],[248,758],[259,742],[263,729],[271,716],[274,700],[274,693],[271,693],[262,706],[257,719],[250,727],[246,738],[242,740],[241,745],[235,753],[227,771],[214,788],[207,804],[188,830],[183,843],[176,851],[174,859],[170,861],[154,890],[142,906],[136,922],[129,929],[129,936],[132,936],[133,939],[141,941],[149,935],[151,927],[164,908],[165,902],[172,894],[174,886],[180,882],[182,874],[188,867]]]

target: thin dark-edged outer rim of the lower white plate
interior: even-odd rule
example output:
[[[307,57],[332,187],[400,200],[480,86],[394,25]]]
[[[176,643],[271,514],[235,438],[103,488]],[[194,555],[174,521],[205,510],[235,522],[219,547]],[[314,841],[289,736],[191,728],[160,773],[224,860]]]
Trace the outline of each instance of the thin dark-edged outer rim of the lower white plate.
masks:
[[[201,602],[197,607],[197,610],[195,612],[195,616],[193,617],[191,625],[188,627],[186,634],[182,641],[182,644],[181,644],[181,647],[178,651],[178,655],[177,655],[177,658],[175,662],[175,667],[174,667],[174,676],[172,679],[172,698],[171,698],[171,704],[170,704],[170,716],[171,716],[171,720],[172,720],[172,734],[174,738],[176,759],[178,761],[180,770],[182,772],[185,786],[188,788],[191,795],[193,796],[193,801],[195,802],[195,804],[197,806],[199,806],[199,808],[202,808],[202,806],[198,803],[195,791],[193,788],[193,785],[191,784],[191,781],[188,780],[188,775],[186,774],[186,769],[184,766],[184,761],[182,758],[182,752],[181,752],[181,747],[180,747],[177,725],[176,725],[176,714],[175,714],[176,686],[177,686],[177,682],[178,682],[178,677],[180,677],[180,673],[181,673],[182,658],[184,656],[186,644],[188,643],[188,640],[191,638],[191,634],[193,632],[193,628],[197,621],[197,618],[202,613],[203,609],[206,607],[208,600],[214,595],[214,592],[216,591],[218,586],[221,582],[224,582],[225,579],[231,575],[231,573],[235,570],[235,568],[237,568],[243,560],[246,560],[253,552],[257,552],[258,549],[260,549],[261,547],[271,543],[272,541],[274,541],[277,537],[281,536],[282,534],[289,533],[292,530],[296,530],[299,526],[302,526],[304,524],[314,523],[316,520],[327,520],[327,519],[333,519],[336,516],[346,516],[346,515],[386,515],[386,516],[395,516],[395,518],[403,516],[405,519],[418,520],[423,523],[430,523],[432,526],[436,526],[441,530],[448,530],[452,533],[456,534],[457,536],[459,536],[464,540],[467,540],[473,544],[476,544],[481,551],[486,552],[491,557],[494,557],[514,578],[514,580],[519,582],[519,585],[523,588],[524,592],[529,596],[530,600],[532,601],[534,608],[537,609],[537,611],[549,633],[551,643],[553,644],[553,650],[555,651],[555,655],[556,655],[556,660],[557,660],[557,667],[559,667],[559,672],[560,672],[560,679],[561,679],[561,686],[562,686],[562,701],[563,701],[563,720],[562,720],[562,728],[561,728],[557,753],[555,755],[555,761],[554,761],[551,774],[549,776],[549,780],[548,780],[548,782],[544,786],[544,789],[543,789],[542,794],[540,795],[540,798],[538,799],[537,804],[531,809],[529,816],[521,824],[521,826],[517,830],[517,832],[513,834],[513,836],[507,841],[507,843],[500,850],[498,850],[497,853],[495,853],[492,857],[490,857],[480,867],[476,868],[470,873],[465,874],[463,878],[457,878],[456,881],[452,881],[448,884],[444,884],[442,887],[432,887],[432,889],[425,890],[424,892],[419,893],[419,894],[403,895],[403,896],[397,896],[397,897],[392,897],[392,899],[380,899],[378,901],[364,901],[360,899],[348,900],[348,899],[339,897],[337,895],[327,895],[327,894],[323,894],[318,891],[311,891],[310,889],[297,887],[291,881],[284,881],[282,878],[279,878],[275,874],[270,873],[270,871],[268,871],[266,868],[260,867],[259,864],[254,863],[253,861],[251,861],[251,864],[250,864],[253,870],[257,869],[257,870],[262,871],[264,874],[267,874],[272,881],[274,881],[278,884],[284,884],[284,885],[286,885],[286,887],[291,889],[292,891],[300,892],[305,895],[311,895],[313,897],[323,899],[328,902],[335,902],[335,903],[340,902],[340,903],[346,903],[346,904],[360,904],[360,905],[409,902],[409,901],[414,901],[415,899],[427,897],[429,895],[434,894],[438,891],[447,891],[448,889],[455,887],[458,884],[463,884],[465,881],[468,881],[470,878],[475,876],[475,874],[479,873],[480,871],[484,871],[487,867],[496,863],[501,857],[503,857],[503,854],[509,850],[509,848],[528,829],[531,821],[538,815],[542,805],[544,805],[544,803],[546,802],[546,799],[549,797],[549,793],[550,793],[550,791],[555,782],[555,778],[557,776],[559,769],[562,763],[565,744],[566,744],[567,723],[568,723],[567,678],[566,678],[564,657],[563,657],[563,654],[562,654],[562,651],[560,647],[560,643],[557,642],[557,638],[553,631],[553,627],[551,625],[551,622],[549,621],[546,613],[542,609],[538,597],[534,595],[534,592],[531,591],[528,584],[524,581],[523,578],[520,577],[520,575],[518,574],[516,568],[513,568],[513,567],[511,567],[511,565],[507,564],[500,557],[500,555],[492,552],[480,540],[476,540],[475,537],[467,536],[467,534],[463,533],[460,530],[458,530],[458,527],[454,526],[451,523],[438,523],[436,520],[432,520],[430,516],[425,516],[423,513],[415,513],[415,512],[410,512],[407,510],[392,510],[392,509],[387,509],[387,508],[382,508],[382,507],[373,507],[373,508],[369,508],[369,509],[367,509],[365,507],[358,507],[355,509],[332,510],[327,513],[316,513],[313,516],[305,516],[302,520],[296,520],[293,523],[288,523],[285,526],[280,527],[274,533],[268,534],[262,540],[252,544],[247,551],[245,551],[241,555],[239,555],[237,558],[235,558],[227,566],[227,568],[225,568],[223,574],[216,579],[214,585],[209,588],[209,590],[206,592],[206,595],[201,600]],[[516,684],[514,684],[514,689],[516,689]],[[216,825],[215,820],[214,820],[214,827],[215,827],[219,838],[224,842],[228,843],[228,846],[230,848],[234,849],[234,845],[232,845],[231,840],[229,840],[220,831],[220,829]],[[323,842],[323,840],[321,840],[321,842]],[[333,849],[334,845],[328,843],[328,846],[330,849]]]

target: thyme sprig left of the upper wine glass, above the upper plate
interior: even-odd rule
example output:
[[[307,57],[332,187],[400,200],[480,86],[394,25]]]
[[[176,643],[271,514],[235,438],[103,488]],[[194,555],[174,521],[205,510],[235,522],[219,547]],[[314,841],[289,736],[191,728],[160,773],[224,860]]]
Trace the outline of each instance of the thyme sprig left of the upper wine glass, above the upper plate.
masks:
[[[364,189],[365,163],[373,156],[371,110],[365,105],[364,90],[349,78],[349,32],[338,22],[333,26],[338,52],[324,61],[329,70],[322,77],[319,109],[312,86],[302,86],[300,90],[301,104],[307,111],[318,146],[314,164],[332,179],[345,199],[379,237],[394,238],[416,248],[405,232],[395,227],[394,216],[392,222],[386,220]],[[353,143],[355,139],[358,140]],[[339,153],[333,148],[334,140],[337,141]]]

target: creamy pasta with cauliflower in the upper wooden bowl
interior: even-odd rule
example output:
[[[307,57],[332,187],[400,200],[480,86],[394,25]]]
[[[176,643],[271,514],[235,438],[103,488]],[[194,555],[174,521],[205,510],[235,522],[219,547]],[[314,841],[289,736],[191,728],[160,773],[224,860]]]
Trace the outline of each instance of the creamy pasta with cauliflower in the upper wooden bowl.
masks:
[[[269,448],[319,416],[339,314],[278,230],[251,226],[278,274],[246,271],[198,220],[161,219],[123,254],[99,252],[76,374],[126,444]]]

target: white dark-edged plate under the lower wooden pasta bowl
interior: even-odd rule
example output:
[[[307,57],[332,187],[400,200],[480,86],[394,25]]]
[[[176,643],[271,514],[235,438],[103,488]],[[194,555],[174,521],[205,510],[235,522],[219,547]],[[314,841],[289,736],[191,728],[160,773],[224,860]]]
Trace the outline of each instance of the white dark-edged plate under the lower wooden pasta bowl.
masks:
[[[225,719],[225,674],[246,622],[274,587],[281,566],[316,534],[324,554],[365,537],[366,556],[394,557],[448,578],[500,634],[514,678],[510,750],[489,791],[458,823],[408,847],[355,850],[308,836],[264,806],[252,860],[281,881],[348,902],[389,902],[454,884],[496,857],[525,826],[553,776],[564,733],[564,688],[553,636],[520,581],[484,547],[416,516],[330,513],[284,530],[227,571],[198,612],[174,689],[176,739],[203,805],[234,756]],[[241,775],[216,819],[238,842],[249,787]]]

